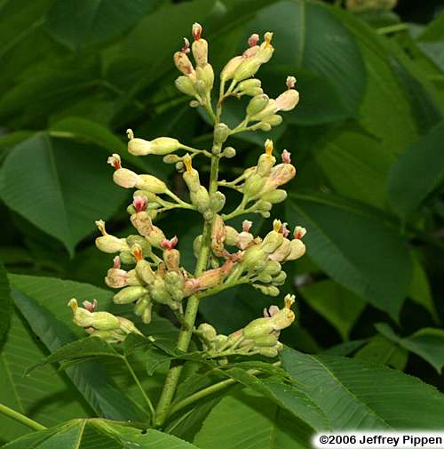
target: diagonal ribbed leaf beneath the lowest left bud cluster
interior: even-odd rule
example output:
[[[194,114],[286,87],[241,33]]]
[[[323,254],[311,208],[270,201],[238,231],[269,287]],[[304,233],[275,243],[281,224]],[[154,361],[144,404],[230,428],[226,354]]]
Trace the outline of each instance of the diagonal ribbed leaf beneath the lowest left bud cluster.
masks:
[[[52,352],[75,341],[79,335],[84,336],[83,330],[72,323],[72,312],[67,307],[69,298],[96,298],[102,309],[112,296],[92,285],[59,279],[12,275],[10,281],[14,289],[12,299],[34,333]],[[100,416],[117,421],[147,419],[125,390],[117,388],[105,365],[88,361],[67,368],[66,373]]]

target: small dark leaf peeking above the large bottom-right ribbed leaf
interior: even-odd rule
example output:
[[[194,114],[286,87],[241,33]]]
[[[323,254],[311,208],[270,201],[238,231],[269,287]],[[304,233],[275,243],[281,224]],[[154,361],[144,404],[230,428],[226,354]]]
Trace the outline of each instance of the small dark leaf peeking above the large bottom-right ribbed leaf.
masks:
[[[404,371],[408,352],[382,335],[376,335],[354,355],[358,360],[377,365],[387,365]]]

